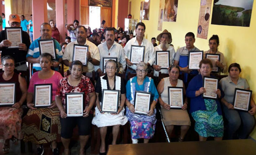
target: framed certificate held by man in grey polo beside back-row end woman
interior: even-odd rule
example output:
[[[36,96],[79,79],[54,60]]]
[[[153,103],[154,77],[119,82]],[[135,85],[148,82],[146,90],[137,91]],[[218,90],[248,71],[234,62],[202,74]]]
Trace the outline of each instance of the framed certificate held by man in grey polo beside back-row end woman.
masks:
[[[189,51],[188,69],[199,69],[200,61],[203,59],[204,51]]]

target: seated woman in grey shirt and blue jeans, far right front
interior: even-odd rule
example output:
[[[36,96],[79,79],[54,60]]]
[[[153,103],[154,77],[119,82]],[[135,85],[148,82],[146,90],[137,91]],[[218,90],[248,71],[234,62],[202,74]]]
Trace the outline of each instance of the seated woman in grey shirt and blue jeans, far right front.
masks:
[[[230,64],[228,72],[229,76],[220,80],[222,90],[225,93],[225,97],[222,98],[221,102],[225,118],[227,119],[227,139],[231,140],[234,137],[246,139],[255,126],[255,119],[253,115],[256,112],[256,105],[253,99],[251,99],[251,109],[248,109],[248,111],[238,111],[234,109],[235,89],[239,88],[250,90],[250,87],[246,79],[239,76],[241,73],[239,64]],[[248,99],[242,98],[242,100],[246,101]],[[247,107],[247,102],[243,101],[241,103],[245,104],[245,107]],[[237,135],[235,135],[235,132],[237,132]]]

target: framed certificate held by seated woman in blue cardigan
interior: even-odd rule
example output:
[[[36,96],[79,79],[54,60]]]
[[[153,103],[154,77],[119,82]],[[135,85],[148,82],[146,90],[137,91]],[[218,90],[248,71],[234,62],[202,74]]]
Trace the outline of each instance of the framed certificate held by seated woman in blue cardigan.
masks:
[[[213,77],[204,77],[203,82],[203,87],[206,89],[206,92],[202,97],[206,99],[217,99],[216,91],[218,89],[219,79]]]

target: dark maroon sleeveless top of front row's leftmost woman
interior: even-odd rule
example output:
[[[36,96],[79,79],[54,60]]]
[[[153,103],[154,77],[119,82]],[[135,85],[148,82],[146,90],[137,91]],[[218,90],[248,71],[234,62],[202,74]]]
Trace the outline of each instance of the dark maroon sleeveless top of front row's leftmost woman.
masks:
[[[20,83],[18,81],[18,73],[14,72],[13,77],[10,80],[5,80],[3,79],[3,73],[0,73],[0,82],[16,82],[16,102],[18,102],[21,99],[21,88],[20,88]]]

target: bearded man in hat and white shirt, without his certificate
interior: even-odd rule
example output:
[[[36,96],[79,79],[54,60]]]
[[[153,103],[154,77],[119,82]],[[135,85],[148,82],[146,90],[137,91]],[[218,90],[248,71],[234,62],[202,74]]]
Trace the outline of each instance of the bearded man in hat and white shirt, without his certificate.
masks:
[[[160,41],[160,44],[154,47],[155,51],[169,51],[169,61],[170,65],[172,65],[175,56],[174,48],[169,45],[172,43],[172,34],[168,32],[168,30],[164,30],[157,36],[157,41]],[[161,71],[161,73],[168,74],[168,69],[161,69],[160,67],[161,66],[156,65],[156,62],[154,63],[154,76],[158,77],[159,71]]]

